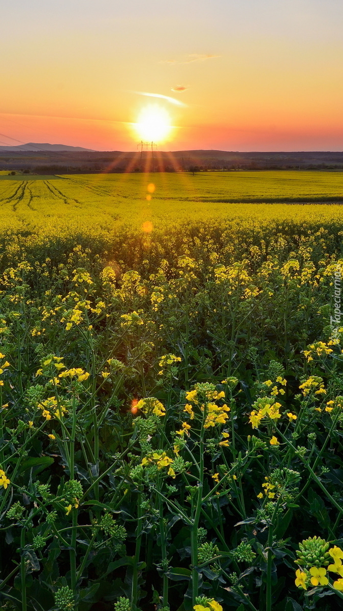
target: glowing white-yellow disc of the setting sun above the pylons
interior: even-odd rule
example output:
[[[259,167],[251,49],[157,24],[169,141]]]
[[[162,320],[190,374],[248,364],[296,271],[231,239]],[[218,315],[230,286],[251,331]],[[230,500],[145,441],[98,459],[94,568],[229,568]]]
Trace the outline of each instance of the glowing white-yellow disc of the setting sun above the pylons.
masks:
[[[162,142],[172,129],[168,112],[157,104],[143,108],[134,127],[138,136],[148,142]]]

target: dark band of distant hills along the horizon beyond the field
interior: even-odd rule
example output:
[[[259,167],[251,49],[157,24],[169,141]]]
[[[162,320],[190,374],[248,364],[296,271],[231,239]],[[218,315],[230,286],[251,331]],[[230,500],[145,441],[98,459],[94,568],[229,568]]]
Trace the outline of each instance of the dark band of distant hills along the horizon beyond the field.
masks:
[[[28,142],[0,147],[0,170],[26,174],[99,172],[201,172],[206,170],[343,171],[343,151],[95,151],[65,144]],[[25,171],[26,170],[26,171]]]

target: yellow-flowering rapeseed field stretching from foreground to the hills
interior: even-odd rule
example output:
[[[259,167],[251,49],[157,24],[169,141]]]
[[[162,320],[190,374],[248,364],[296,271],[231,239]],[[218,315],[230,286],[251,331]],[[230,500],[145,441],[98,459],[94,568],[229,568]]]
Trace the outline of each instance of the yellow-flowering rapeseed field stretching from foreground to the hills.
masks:
[[[3,609],[343,609],[342,186],[1,178]]]

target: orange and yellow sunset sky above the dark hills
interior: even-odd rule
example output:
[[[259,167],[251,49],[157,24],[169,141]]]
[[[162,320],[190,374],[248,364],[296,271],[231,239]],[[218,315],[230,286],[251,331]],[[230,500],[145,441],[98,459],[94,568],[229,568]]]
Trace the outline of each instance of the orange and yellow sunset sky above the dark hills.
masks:
[[[342,31],[342,0],[11,0],[0,144],[341,151]]]

